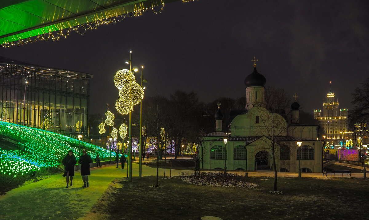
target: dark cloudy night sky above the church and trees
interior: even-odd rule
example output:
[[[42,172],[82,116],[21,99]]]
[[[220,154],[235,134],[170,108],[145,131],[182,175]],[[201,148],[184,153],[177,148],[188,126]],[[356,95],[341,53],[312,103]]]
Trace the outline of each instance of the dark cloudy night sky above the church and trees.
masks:
[[[245,94],[244,79],[259,59],[266,85],[295,92],[304,111],[321,108],[332,91],[340,107],[369,77],[368,1],[196,0],[166,4],[162,13],[103,25],[81,36],[0,48],[0,56],[54,68],[87,72],[90,108],[114,106],[113,77],[133,51],[144,65],[146,96],[177,89],[201,101]]]

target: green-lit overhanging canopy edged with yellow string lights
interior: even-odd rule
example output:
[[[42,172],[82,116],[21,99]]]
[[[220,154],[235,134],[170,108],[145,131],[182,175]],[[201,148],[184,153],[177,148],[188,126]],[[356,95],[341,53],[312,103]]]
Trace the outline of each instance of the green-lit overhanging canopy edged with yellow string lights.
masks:
[[[111,18],[176,0],[2,0],[0,44]]]

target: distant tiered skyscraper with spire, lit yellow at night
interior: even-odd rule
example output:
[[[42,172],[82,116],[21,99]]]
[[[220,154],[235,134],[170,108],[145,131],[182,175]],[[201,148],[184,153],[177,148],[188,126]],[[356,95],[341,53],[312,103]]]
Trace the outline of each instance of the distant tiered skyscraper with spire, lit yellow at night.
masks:
[[[327,100],[323,100],[323,110],[315,109],[314,118],[319,120],[323,127],[322,136],[328,139],[345,139],[348,136],[347,109],[338,107],[338,99],[334,100],[331,81],[329,85],[330,91],[327,93]]]

